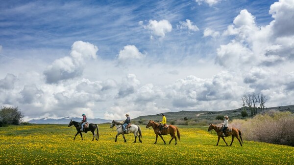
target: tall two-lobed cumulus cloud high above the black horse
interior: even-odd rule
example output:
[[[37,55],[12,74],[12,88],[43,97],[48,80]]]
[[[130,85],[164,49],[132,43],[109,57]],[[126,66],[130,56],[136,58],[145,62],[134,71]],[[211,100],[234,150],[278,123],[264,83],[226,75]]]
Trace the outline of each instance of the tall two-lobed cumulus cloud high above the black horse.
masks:
[[[84,41],[75,41],[70,55],[55,60],[44,71],[47,83],[57,83],[63,80],[79,77],[83,73],[84,61],[96,59],[97,46]]]

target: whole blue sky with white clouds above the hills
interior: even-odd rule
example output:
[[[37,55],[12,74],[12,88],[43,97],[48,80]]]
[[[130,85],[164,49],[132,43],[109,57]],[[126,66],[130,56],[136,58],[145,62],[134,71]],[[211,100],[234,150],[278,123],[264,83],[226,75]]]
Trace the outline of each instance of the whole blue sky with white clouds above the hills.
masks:
[[[294,0],[0,0],[0,105],[118,120],[294,104]]]

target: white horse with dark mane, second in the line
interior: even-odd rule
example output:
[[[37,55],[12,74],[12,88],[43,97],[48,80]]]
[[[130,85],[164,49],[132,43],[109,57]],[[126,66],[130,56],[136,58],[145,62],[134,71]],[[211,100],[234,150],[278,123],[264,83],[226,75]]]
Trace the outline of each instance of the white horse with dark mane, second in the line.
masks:
[[[115,137],[115,142],[117,142],[117,138],[120,134],[123,134],[123,139],[124,142],[126,142],[125,138],[124,138],[124,133],[123,133],[123,124],[120,122],[116,122],[116,121],[112,121],[110,128],[113,128],[114,126],[116,126],[118,134]],[[126,128],[126,134],[133,132],[134,133],[134,137],[135,137],[135,141],[134,143],[136,143],[137,140],[137,136],[139,137],[139,141],[142,143],[141,138],[142,138],[142,132],[141,132],[141,128],[139,125],[135,125],[135,124],[131,124],[131,127]],[[141,138],[140,138],[141,137]]]

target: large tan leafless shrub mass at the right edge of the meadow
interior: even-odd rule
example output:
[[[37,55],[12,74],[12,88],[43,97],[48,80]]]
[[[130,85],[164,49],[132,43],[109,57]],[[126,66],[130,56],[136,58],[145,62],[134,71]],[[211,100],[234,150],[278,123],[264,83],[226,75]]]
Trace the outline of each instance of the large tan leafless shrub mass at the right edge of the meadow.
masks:
[[[294,125],[291,112],[270,110],[253,119],[244,122],[234,120],[233,123],[241,125],[245,140],[294,146],[294,129],[289,127]]]

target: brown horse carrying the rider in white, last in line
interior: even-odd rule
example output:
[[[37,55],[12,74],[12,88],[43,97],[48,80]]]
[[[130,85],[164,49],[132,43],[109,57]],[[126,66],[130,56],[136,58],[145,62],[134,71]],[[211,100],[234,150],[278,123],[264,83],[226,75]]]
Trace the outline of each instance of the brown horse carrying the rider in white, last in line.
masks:
[[[210,125],[209,125],[209,128],[208,128],[208,131],[211,131],[212,129],[215,130],[215,131],[217,132],[217,134],[218,134],[218,143],[217,143],[217,145],[219,145],[220,138],[224,141],[224,143],[225,143],[226,145],[228,145],[228,144],[225,142],[225,140],[224,140],[224,138],[223,138],[223,136],[222,136],[221,127],[218,127],[218,126],[216,126],[215,124],[210,124]],[[231,142],[230,146],[231,146],[232,143],[234,142],[234,137],[236,137],[236,138],[238,139],[238,141],[240,142],[240,145],[242,146],[243,140],[242,140],[242,133],[241,133],[241,131],[240,131],[239,129],[237,129],[237,128],[232,127],[232,131],[228,132],[228,129],[229,129],[229,128],[227,128],[227,130],[226,130],[226,135],[227,135],[227,136],[231,136],[231,135],[232,135],[232,142]],[[240,139],[241,139],[242,143],[241,143],[241,141],[240,141],[240,139],[239,139],[239,136],[240,136]]]

